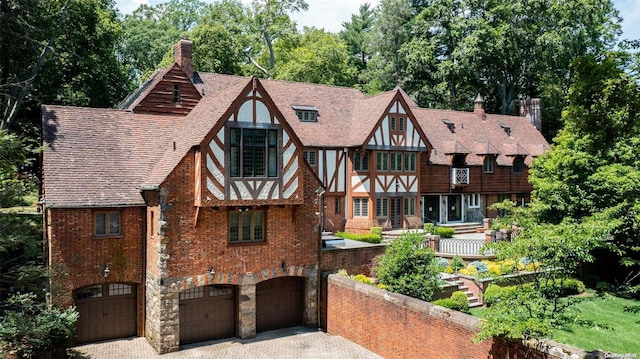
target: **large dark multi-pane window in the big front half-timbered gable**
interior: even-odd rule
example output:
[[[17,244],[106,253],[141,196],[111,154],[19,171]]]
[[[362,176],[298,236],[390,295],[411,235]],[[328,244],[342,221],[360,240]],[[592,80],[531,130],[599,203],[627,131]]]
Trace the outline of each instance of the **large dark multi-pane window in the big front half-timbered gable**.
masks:
[[[231,177],[278,176],[278,130],[231,128]]]

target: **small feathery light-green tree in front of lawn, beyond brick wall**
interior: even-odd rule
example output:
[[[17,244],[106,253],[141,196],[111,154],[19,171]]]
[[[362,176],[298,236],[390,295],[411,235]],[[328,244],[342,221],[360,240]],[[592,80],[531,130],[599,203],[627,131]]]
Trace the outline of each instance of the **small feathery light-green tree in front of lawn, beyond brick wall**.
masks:
[[[566,298],[564,287],[581,265],[594,261],[594,250],[605,245],[611,226],[598,220],[539,223],[533,211],[509,201],[494,209],[506,211],[502,220],[516,224],[518,231],[513,242],[493,243],[487,248],[502,261],[533,263],[533,281],[520,280],[513,290],[500,292],[487,308],[475,340],[544,337],[557,329],[589,324],[580,321],[575,309],[582,299]]]

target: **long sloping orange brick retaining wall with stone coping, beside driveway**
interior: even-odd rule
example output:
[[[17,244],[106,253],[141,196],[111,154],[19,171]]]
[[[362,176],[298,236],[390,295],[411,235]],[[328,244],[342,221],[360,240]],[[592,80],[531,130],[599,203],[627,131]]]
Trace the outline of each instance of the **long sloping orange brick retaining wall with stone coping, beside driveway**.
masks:
[[[428,302],[337,275],[328,278],[327,332],[387,359],[584,358],[553,342],[486,340],[473,343],[480,321]]]

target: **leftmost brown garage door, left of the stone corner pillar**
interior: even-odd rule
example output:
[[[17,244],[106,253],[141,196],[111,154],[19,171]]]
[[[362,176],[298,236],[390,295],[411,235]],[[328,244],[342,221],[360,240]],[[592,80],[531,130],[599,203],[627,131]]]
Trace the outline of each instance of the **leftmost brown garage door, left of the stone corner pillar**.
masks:
[[[100,284],[76,290],[76,343],[137,335],[136,303],[133,284]]]

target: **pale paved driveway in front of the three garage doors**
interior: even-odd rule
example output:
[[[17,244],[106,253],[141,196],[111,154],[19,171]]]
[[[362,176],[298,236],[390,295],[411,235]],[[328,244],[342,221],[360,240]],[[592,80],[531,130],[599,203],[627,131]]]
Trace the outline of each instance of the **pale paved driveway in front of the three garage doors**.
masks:
[[[69,349],[77,359],[384,359],[342,337],[294,327],[259,333],[253,339],[220,339],[182,346],[179,352],[159,355],[145,338],[127,338]]]

